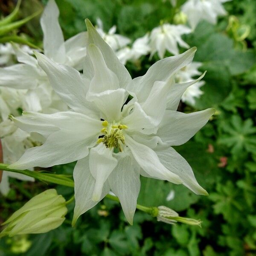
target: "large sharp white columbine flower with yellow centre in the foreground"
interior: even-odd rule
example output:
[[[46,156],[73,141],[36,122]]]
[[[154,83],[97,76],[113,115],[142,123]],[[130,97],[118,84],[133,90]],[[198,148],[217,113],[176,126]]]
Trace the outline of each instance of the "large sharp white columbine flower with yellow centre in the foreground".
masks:
[[[188,141],[215,112],[177,112],[180,98],[196,81],[175,84],[174,74],[186,67],[195,48],[156,62],[141,77],[131,79],[111,47],[89,20],[84,76],[36,53],[55,92],[70,111],[28,112],[13,118],[25,131],[36,131],[46,142],[29,148],[9,166],[27,169],[77,161],[74,169],[73,224],[111,190],[132,224],[140,191],[140,175],[183,183],[207,195],[191,167],[171,145]],[[129,96],[130,95],[130,96]],[[132,98],[132,99],[131,99]]]

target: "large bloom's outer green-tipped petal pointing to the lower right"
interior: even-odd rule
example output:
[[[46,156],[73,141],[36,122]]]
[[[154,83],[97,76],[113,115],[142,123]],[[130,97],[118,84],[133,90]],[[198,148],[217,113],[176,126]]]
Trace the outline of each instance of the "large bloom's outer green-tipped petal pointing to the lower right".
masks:
[[[183,185],[191,189],[197,195],[208,195],[206,190],[196,181],[195,175],[187,161],[172,147],[158,148],[155,151],[160,162],[183,180]]]

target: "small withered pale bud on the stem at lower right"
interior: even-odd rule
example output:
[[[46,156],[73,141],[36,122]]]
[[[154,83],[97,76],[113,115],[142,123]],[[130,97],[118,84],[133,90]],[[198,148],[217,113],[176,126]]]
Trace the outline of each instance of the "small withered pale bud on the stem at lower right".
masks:
[[[182,222],[188,225],[197,225],[201,227],[200,220],[180,217],[177,212],[175,212],[174,210],[166,206],[159,206],[157,208],[158,208],[157,221],[162,221],[167,224],[175,224],[176,222]]]

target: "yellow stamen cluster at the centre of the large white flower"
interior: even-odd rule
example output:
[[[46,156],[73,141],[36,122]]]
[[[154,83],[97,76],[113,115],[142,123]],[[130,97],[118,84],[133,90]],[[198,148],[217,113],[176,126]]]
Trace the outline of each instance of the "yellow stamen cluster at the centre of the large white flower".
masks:
[[[111,124],[108,121],[102,122],[101,132],[104,134],[103,137],[97,140],[97,143],[105,144],[106,148],[114,148],[117,152],[122,152],[122,144],[125,144],[124,129],[128,127],[121,125],[120,122],[113,121]]]

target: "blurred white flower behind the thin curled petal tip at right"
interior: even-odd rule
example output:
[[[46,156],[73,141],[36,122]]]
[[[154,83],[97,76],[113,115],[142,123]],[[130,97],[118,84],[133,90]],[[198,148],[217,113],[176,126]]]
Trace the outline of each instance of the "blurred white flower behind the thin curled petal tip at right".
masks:
[[[177,83],[193,81],[194,76],[200,76],[202,74],[200,71],[198,71],[198,68],[201,66],[201,62],[192,62],[186,67],[183,67],[175,75],[175,81]],[[200,87],[202,87],[204,84],[204,81],[198,81],[197,83],[189,86],[181,96],[181,101],[192,106],[195,105],[195,98],[199,98],[203,94]]]

